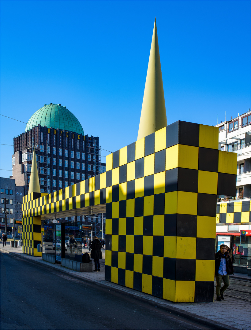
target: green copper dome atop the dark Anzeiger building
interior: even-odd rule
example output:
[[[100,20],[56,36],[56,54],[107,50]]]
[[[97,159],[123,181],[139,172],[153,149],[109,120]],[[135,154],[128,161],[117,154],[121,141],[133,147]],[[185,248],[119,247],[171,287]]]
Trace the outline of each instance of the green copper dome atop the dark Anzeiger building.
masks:
[[[80,122],[68,109],[62,107],[61,104],[45,104],[43,108],[36,111],[30,117],[25,127],[25,132],[38,124],[84,135]]]

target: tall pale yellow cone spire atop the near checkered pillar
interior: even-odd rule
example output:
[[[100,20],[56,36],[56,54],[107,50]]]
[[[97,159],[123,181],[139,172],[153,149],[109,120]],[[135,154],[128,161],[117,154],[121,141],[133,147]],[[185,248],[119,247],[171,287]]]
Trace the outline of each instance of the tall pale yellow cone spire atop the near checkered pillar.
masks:
[[[138,140],[167,126],[166,106],[162,82],[159,45],[154,22],[152,44],[146,74],[146,85],[140,116]]]

